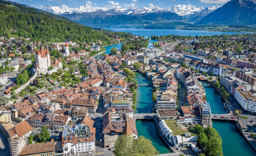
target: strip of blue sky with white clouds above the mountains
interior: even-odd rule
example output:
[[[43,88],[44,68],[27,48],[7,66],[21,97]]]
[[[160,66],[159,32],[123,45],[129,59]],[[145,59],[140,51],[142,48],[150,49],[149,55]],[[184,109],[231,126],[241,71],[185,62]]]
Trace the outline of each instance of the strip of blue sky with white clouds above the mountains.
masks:
[[[83,4],[89,4],[94,7],[104,6],[122,6],[122,7],[152,7],[158,6],[164,9],[172,7],[174,5],[191,4],[196,7],[209,7],[213,5],[223,5],[228,0],[11,0],[18,3],[26,4],[31,7],[40,8],[40,5],[45,6],[50,4],[51,6],[60,6],[65,4],[68,7],[75,8]]]

